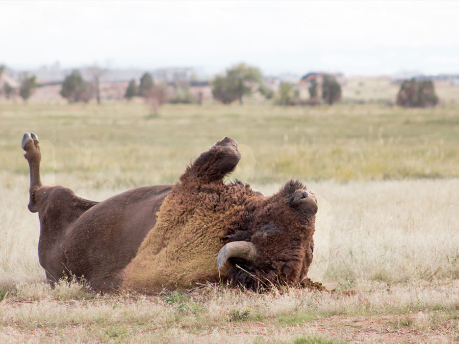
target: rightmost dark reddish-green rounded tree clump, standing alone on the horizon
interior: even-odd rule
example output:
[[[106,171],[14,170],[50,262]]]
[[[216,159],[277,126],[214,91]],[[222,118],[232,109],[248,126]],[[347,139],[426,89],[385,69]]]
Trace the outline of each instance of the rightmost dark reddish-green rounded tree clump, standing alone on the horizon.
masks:
[[[437,105],[439,99],[431,80],[405,80],[397,94],[397,105],[405,108],[426,108]]]

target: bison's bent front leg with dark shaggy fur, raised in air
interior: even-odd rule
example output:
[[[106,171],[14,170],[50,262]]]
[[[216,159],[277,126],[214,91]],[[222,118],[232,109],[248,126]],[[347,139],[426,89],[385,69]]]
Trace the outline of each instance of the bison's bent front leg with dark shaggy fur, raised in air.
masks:
[[[207,152],[202,153],[180,177],[182,182],[210,183],[221,181],[223,177],[234,171],[241,158],[236,140],[225,137],[215,143]]]

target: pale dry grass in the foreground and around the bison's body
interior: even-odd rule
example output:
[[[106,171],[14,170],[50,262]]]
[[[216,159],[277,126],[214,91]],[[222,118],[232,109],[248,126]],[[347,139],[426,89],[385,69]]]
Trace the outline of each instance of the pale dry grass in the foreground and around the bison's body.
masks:
[[[78,284],[52,290],[37,262],[38,219],[25,209],[22,190],[4,190],[10,210],[0,219],[0,341],[459,339],[459,180],[311,186],[320,212],[310,276],[337,289],[331,294],[287,288],[257,295],[224,286],[155,297],[98,296]]]

